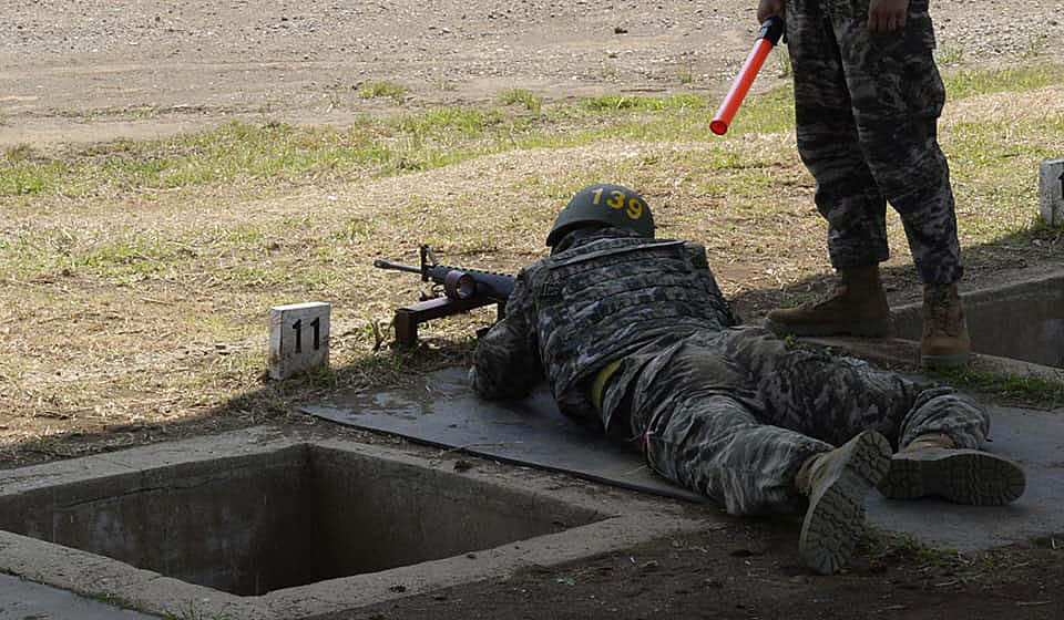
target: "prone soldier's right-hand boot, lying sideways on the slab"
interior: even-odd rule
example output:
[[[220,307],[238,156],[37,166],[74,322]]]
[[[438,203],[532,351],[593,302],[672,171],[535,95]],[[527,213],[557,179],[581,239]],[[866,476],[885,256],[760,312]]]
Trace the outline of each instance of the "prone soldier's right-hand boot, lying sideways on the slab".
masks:
[[[920,435],[891,457],[880,492],[894,499],[930,495],[974,506],[1001,506],[1023,495],[1026,476],[1019,465],[989,452],[953,446],[949,435]]]

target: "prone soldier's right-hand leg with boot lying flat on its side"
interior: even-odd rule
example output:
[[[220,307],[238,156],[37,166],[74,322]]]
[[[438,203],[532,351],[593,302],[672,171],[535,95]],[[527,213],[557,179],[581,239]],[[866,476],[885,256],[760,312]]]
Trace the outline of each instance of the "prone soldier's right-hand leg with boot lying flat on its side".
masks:
[[[720,342],[756,378],[768,423],[836,445],[874,430],[899,446],[881,487],[888,497],[1000,505],[1023,494],[1023,472],[980,450],[990,432],[986,410],[952,388],[921,385],[822,351],[789,350],[759,328],[729,330]]]

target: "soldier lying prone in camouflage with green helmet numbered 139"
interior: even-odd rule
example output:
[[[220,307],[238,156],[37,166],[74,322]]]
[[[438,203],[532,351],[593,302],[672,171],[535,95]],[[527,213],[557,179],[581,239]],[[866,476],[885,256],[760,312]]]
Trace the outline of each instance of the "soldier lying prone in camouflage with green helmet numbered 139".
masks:
[[[986,411],[952,389],[736,327],[705,249],[655,240],[632,190],[584,188],[546,245],[477,345],[474,390],[521,397],[545,374],[563,413],[637,442],[655,472],[730,514],[805,510],[814,569],[847,561],[877,485],[982,505],[1023,493],[1016,465],[978,450]]]

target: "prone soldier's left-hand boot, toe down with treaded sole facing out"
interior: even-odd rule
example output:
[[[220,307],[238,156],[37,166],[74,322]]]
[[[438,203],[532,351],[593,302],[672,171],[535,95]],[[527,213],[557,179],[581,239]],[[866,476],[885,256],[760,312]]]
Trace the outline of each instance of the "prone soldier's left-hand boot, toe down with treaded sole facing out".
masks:
[[[890,465],[890,442],[866,431],[841,447],[809,457],[795,486],[809,496],[798,551],[822,575],[837,572],[850,559],[864,531],[864,497]]]

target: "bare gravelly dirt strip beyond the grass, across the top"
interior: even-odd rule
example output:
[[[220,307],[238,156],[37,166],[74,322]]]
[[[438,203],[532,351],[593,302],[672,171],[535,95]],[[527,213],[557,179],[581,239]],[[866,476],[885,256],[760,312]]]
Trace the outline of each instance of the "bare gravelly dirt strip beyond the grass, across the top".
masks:
[[[1064,4],[932,3],[947,64],[1061,50]],[[153,137],[232,117],[344,123],[391,105],[357,87],[392,81],[408,106],[723,92],[749,50],[754,0],[338,3],[9,0],[0,18],[0,145]],[[759,86],[778,82],[764,72]]]

